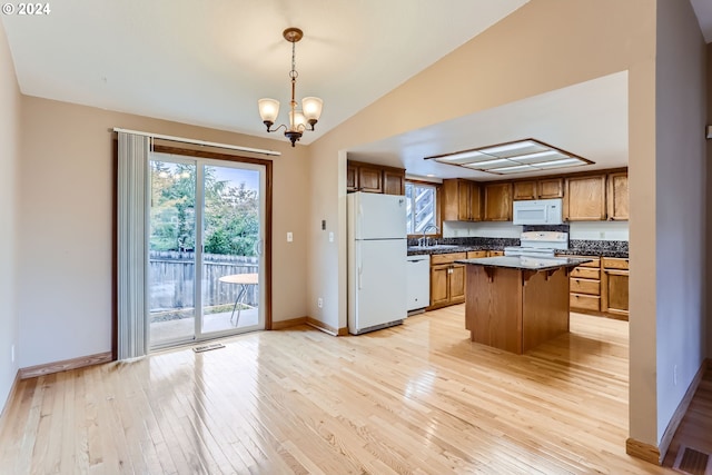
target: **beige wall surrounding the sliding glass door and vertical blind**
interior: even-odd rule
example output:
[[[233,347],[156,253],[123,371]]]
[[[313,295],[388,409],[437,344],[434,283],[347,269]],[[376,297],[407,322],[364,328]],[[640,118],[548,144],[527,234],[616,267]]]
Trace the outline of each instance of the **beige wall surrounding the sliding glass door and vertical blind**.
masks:
[[[111,348],[112,133],[269,148],[274,158],[274,320],[306,316],[307,150],[107,110],[22,98],[18,310],[20,367]],[[259,156],[265,158],[265,156]],[[287,231],[294,243],[286,241]]]

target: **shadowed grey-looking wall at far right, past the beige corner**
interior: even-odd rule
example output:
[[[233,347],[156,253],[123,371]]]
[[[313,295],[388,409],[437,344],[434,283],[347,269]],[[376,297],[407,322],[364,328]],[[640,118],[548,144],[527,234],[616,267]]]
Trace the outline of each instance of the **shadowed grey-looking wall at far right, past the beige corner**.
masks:
[[[706,46],[688,1],[657,1],[655,98],[657,434],[706,354]]]

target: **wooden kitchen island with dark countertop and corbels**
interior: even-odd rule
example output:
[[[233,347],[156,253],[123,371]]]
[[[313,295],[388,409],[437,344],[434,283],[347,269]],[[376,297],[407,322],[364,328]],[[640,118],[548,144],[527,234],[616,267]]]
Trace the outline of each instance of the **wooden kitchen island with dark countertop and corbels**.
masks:
[[[521,355],[568,331],[568,274],[587,261],[525,256],[457,260],[466,265],[471,339]]]

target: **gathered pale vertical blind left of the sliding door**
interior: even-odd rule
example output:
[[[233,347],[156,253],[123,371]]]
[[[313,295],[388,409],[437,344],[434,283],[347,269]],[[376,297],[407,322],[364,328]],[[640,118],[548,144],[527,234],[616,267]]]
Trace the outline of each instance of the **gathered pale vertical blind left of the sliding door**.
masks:
[[[148,353],[148,155],[151,138],[118,132],[118,359]]]

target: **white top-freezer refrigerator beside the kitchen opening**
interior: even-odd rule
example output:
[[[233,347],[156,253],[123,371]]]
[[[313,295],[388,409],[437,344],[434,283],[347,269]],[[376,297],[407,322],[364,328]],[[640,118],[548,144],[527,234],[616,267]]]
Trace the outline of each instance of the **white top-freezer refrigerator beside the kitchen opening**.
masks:
[[[347,196],[348,331],[360,335],[407,317],[404,196]]]

